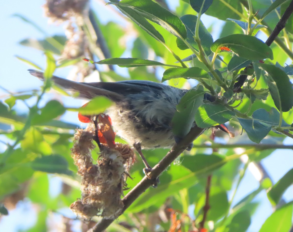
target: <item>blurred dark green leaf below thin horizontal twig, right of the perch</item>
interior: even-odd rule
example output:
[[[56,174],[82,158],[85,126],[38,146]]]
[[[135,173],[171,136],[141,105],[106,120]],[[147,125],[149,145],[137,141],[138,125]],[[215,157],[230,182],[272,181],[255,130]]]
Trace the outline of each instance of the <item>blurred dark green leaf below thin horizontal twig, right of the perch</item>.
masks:
[[[182,156],[181,165],[188,168],[197,176],[202,178],[205,175],[211,174],[214,170],[222,167],[226,162],[219,155],[196,154],[195,156]]]

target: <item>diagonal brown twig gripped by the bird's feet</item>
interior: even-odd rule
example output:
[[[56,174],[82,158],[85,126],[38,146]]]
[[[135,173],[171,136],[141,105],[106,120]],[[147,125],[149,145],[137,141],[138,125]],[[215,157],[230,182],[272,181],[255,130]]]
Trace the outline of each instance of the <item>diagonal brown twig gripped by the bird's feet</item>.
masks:
[[[190,143],[193,142],[202,132],[204,129],[199,128],[197,126],[193,127],[190,132],[182,139],[178,144],[174,145],[173,148],[164,156],[164,158],[152,168],[151,172],[148,173],[151,179],[158,178],[159,175],[185,150],[186,147]],[[153,181],[145,176],[142,180],[130,191],[125,195],[122,199],[124,207],[122,209],[121,214],[145,191],[149,188]],[[121,215],[120,214],[120,215]],[[105,230],[114,220],[105,219],[103,218],[99,221],[96,226],[90,229],[88,232],[101,232]]]

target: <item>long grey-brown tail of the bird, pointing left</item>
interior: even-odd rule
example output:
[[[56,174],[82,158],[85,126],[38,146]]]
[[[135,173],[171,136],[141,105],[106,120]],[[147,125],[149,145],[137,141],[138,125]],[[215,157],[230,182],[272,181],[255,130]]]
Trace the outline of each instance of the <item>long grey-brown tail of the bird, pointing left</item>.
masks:
[[[44,73],[41,71],[37,71],[34,69],[28,69],[31,75],[38,77],[41,81],[44,81]],[[91,85],[84,83],[84,82],[76,82],[76,81],[70,81],[64,78],[60,78],[57,76],[52,76],[52,80],[54,83],[58,86],[61,86],[62,88],[78,92],[79,97],[81,98],[88,98],[92,99],[96,96],[105,96],[113,101],[119,101],[122,100],[123,96],[121,94],[100,88],[98,86],[94,86],[93,83]],[[97,82],[98,85],[98,82]]]

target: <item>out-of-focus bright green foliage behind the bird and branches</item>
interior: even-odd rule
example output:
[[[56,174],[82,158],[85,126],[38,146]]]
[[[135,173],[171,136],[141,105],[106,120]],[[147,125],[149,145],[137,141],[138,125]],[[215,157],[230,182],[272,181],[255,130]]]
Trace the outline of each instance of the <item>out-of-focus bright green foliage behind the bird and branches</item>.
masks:
[[[164,0],[156,2],[178,17],[186,14],[197,15],[189,1],[176,1],[176,4]],[[261,21],[260,25],[263,26],[258,28],[257,37],[266,40],[290,2],[275,1],[277,6],[273,7]],[[113,57],[134,57],[179,65],[173,54],[183,61],[192,54],[190,49],[180,50],[176,37],[160,25],[151,23],[163,36],[166,46],[133,23],[115,6],[105,5],[106,3],[107,1],[97,3],[86,0],[45,2],[44,7],[38,8],[37,11],[44,11],[48,21],[53,25],[62,25],[63,32],[56,35],[48,35],[45,29],[40,28],[38,21],[31,21],[30,18],[15,14],[14,17],[19,18],[19,23],[28,24],[30,30],[37,30],[43,35],[41,39],[23,38],[20,44],[27,47],[28,51],[36,49],[40,54],[45,54],[46,63],[39,62],[34,56],[18,59],[28,64],[29,68],[43,69],[48,76],[54,71],[66,70],[67,78],[75,81],[139,79],[161,82],[168,66],[137,66],[127,69],[113,64],[92,64],[83,58],[99,61]],[[108,19],[105,23],[105,16],[98,15],[94,10],[96,4],[107,9],[110,14],[108,17],[115,18],[115,21]],[[258,12],[255,19],[260,18],[259,16],[272,6],[270,0],[213,1],[205,12],[211,17],[203,16],[201,20],[203,25],[209,25],[207,31],[213,35],[214,41],[228,35],[247,32],[241,28],[239,21],[249,22],[249,4],[253,8],[253,14]],[[234,21],[226,20],[227,18]],[[235,20],[239,21],[235,23]],[[293,74],[289,66],[293,59],[292,20],[290,17],[277,42],[270,46],[273,61],[265,61],[266,64],[272,62],[281,68],[289,75],[290,80],[290,75]],[[221,52],[220,57],[224,62],[220,59],[214,62],[214,68],[219,70],[224,69],[235,55],[232,52]],[[196,57],[185,64],[208,71]],[[237,69],[236,74],[244,67]],[[251,74],[251,77],[249,84],[254,86],[256,83],[257,88],[268,89],[263,70],[259,74]],[[258,81],[253,82],[253,77]],[[13,81],[13,77],[11,79]],[[178,88],[191,88],[198,83],[197,80],[183,78],[167,82]],[[212,86],[217,93],[224,94],[221,88]],[[87,231],[100,220],[100,217],[85,222],[76,219],[69,211],[70,204],[81,197],[79,177],[71,158],[71,148],[75,129],[81,124],[77,121],[77,111],[84,103],[81,100],[71,103],[69,99],[72,99],[72,96],[68,96],[56,86],[53,86],[54,90],[50,87],[50,82],[45,82],[41,88],[34,90],[20,89],[12,93],[9,89],[4,89],[6,93],[1,96],[1,220],[4,217],[9,220],[9,214],[19,204],[29,204],[29,210],[35,212],[35,219],[30,219],[33,226],[23,229],[20,225],[19,231]],[[272,107],[276,108],[271,95],[267,95],[259,97],[240,94],[238,97],[241,104],[236,110],[251,116],[255,110],[261,108],[266,111],[270,111]],[[19,102],[22,102],[25,110],[19,110]],[[234,106],[236,105],[235,103]],[[97,111],[101,108],[103,103],[97,106]],[[289,129],[293,121],[292,110],[283,112],[282,119],[287,123],[286,129]],[[250,140],[251,137],[247,135],[249,132],[243,132],[243,125],[240,125],[236,118],[232,118],[227,125],[236,134],[235,138],[230,138],[224,132],[216,132],[213,138],[212,131],[206,130],[194,141],[194,148],[190,152],[185,151],[161,175],[159,186],[144,192],[107,231],[197,231],[201,227],[200,222],[206,211],[206,183],[209,179],[210,208],[204,226],[207,231],[290,231],[293,204],[284,198],[283,194],[292,184],[292,169],[280,180],[273,181],[268,173],[274,173],[277,171],[275,169],[282,170],[282,166],[266,170],[261,161],[272,155],[276,149],[284,149],[279,152],[280,156],[287,153],[286,149],[292,149],[292,145],[285,145],[286,136],[284,133],[276,133],[277,130],[265,134],[265,138],[257,144]],[[256,134],[252,140],[257,141],[258,136]],[[117,138],[117,141],[122,140]],[[292,144],[291,138],[285,141],[286,144]],[[98,158],[98,152],[98,149],[92,152],[94,160]],[[144,151],[144,155],[150,165],[154,166],[167,152],[168,150],[156,149]],[[292,164],[292,159],[288,160],[288,163]],[[143,178],[143,167],[138,158],[130,170],[133,180],[127,180],[130,190]],[[242,187],[240,191],[245,194],[237,197],[245,175],[251,174],[258,186],[251,188],[246,182],[244,188],[249,190],[245,192]],[[126,190],[124,194],[130,190]],[[292,190],[290,193],[292,196]],[[267,220],[260,219],[259,214],[255,214],[260,207],[260,194],[267,197],[267,201],[270,202],[270,216]],[[13,220],[15,219],[11,218],[8,223],[16,223]],[[253,227],[249,227],[251,223]]]

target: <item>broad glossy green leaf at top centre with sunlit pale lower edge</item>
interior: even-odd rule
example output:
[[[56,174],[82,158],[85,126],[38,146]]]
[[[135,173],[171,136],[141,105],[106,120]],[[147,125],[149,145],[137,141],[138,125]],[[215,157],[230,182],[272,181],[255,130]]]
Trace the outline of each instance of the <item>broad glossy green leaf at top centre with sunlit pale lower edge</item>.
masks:
[[[151,0],[122,0],[117,6],[132,8],[179,38],[185,39],[187,36],[186,28],[180,18]]]

